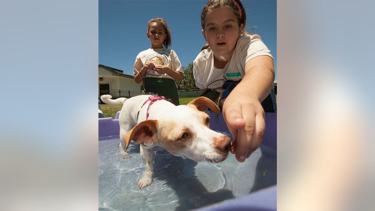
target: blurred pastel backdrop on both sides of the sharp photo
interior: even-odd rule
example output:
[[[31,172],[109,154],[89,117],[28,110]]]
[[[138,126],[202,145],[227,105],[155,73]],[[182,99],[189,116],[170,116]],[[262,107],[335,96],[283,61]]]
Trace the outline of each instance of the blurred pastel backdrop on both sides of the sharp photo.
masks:
[[[373,8],[278,1],[280,210],[375,205]],[[2,207],[97,209],[98,2],[5,0],[0,20]]]

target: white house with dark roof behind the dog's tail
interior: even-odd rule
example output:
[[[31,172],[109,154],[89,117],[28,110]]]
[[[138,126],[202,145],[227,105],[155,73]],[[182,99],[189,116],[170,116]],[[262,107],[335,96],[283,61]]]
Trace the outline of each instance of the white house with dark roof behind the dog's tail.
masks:
[[[141,94],[142,84],[134,81],[133,75],[124,74],[122,70],[99,65],[99,96],[112,95],[112,98],[133,97]]]

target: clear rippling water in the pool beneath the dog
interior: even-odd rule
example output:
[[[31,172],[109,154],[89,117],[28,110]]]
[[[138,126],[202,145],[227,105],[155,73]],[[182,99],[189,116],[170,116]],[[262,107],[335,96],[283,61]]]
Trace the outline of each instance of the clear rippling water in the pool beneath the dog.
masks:
[[[221,163],[198,163],[155,147],[153,182],[139,190],[139,144],[131,142],[124,158],[119,142],[99,140],[100,210],[190,210],[276,184],[276,151],[265,145],[243,163],[231,153]]]

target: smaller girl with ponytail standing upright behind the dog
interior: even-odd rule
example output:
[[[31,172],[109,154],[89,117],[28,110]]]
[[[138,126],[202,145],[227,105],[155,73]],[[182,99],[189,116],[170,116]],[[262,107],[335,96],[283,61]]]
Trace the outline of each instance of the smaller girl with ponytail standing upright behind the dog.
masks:
[[[175,80],[182,80],[183,69],[171,45],[171,33],[163,18],[148,21],[146,32],[151,48],[139,53],[134,63],[134,80],[143,83],[147,94],[157,94],[179,105]]]

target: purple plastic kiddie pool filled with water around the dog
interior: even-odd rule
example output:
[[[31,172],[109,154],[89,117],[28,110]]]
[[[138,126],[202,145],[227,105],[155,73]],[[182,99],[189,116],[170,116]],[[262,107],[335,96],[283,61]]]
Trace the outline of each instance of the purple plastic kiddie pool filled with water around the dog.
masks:
[[[121,157],[118,114],[99,119],[99,209],[101,210],[276,210],[276,113],[266,113],[263,143],[240,163],[229,153],[221,163],[195,162],[153,149],[154,177],[139,190],[144,170],[139,144]],[[210,128],[230,136],[222,113]]]

